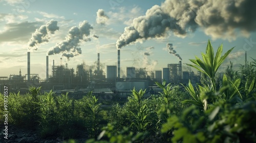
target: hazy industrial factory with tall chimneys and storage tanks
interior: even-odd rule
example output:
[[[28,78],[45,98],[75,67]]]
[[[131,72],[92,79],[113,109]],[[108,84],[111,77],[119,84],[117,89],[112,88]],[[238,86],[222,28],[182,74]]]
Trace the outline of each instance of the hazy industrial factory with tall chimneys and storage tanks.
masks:
[[[8,85],[13,92],[28,92],[30,86],[41,86],[43,91],[95,91],[95,92],[130,92],[133,88],[152,90],[156,87],[155,82],[177,84],[187,83],[188,80],[197,80],[194,72],[183,71],[182,62],[178,64],[167,64],[162,70],[156,70],[153,75],[148,76],[145,68],[126,67],[125,76],[120,76],[120,50],[117,51],[117,66],[106,65],[105,72],[100,69],[100,53],[98,53],[97,68],[86,69],[83,64],[76,66],[76,69],[69,68],[68,64],[56,65],[52,60],[52,67],[49,67],[49,56],[46,56],[46,77],[39,77],[38,74],[30,73],[30,52],[27,53],[27,74],[10,75],[0,77],[1,92],[3,86]],[[51,68],[51,73],[49,69]],[[152,78],[153,77],[153,78]],[[45,79],[45,80],[40,80]],[[60,92],[61,93],[61,92]],[[77,92],[78,93],[78,92]]]

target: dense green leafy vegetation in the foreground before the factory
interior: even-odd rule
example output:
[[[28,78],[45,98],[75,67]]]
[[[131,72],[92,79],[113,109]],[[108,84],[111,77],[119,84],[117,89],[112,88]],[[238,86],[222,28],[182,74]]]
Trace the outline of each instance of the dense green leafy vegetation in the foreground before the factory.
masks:
[[[218,68],[232,51],[222,56],[222,49],[215,55],[209,41],[203,60],[190,60],[194,64],[188,65],[204,75],[200,84],[189,82],[184,91],[156,83],[159,94],[144,98],[145,90],[134,89],[124,104],[113,102],[106,109],[93,92],[73,100],[31,87],[24,96],[10,94],[9,122],[40,130],[41,137],[76,138],[84,132],[91,138],[87,142],[256,142],[256,61],[239,71],[230,63],[220,77]]]

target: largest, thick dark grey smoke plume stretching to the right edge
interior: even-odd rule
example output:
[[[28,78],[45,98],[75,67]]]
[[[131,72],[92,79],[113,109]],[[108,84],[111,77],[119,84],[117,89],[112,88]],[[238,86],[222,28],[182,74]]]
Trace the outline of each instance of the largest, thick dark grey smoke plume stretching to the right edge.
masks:
[[[212,38],[235,39],[256,30],[253,0],[166,0],[137,17],[116,42],[117,49],[150,38],[163,38],[168,31],[178,37],[201,27]],[[238,31],[241,30],[241,32]],[[239,33],[238,33],[239,32]],[[240,35],[239,35],[240,36]]]

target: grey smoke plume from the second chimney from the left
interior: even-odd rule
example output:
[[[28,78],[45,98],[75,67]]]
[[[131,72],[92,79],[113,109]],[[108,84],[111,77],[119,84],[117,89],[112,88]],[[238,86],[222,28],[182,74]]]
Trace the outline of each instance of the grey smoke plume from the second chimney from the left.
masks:
[[[89,24],[88,21],[84,20],[79,24],[79,27],[72,27],[66,39],[60,43],[56,43],[55,46],[47,52],[48,55],[54,55],[62,53],[62,56],[67,59],[74,56],[80,55],[82,53],[81,48],[78,47],[81,41],[91,41],[89,38],[90,31],[93,27]]]

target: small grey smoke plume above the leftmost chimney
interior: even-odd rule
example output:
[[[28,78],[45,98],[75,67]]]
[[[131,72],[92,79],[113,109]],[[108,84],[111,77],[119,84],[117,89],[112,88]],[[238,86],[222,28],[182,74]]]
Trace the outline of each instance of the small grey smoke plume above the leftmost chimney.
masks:
[[[56,30],[59,30],[57,22],[58,21],[52,19],[49,22],[47,22],[46,25],[43,25],[39,29],[36,29],[36,31],[32,34],[32,37],[28,42],[28,49],[37,50],[39,44],[49,42],[49,33],[54,34]]]

